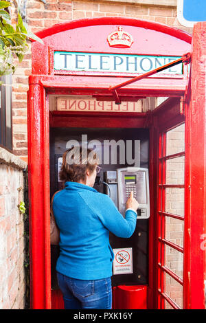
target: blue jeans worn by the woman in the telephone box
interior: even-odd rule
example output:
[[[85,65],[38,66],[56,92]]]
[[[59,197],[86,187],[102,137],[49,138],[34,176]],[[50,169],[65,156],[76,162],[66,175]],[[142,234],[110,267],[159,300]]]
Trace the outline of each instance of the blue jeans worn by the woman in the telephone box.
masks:
[[[65,309],[111,309],[111,277],[80,280],[57,273]]]

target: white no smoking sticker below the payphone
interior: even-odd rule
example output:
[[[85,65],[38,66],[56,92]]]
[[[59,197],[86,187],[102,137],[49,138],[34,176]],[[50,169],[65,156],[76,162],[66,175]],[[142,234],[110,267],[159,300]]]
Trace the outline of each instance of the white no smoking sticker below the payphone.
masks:
[[[113,274],[133,274],[133,248],[113,249]]]

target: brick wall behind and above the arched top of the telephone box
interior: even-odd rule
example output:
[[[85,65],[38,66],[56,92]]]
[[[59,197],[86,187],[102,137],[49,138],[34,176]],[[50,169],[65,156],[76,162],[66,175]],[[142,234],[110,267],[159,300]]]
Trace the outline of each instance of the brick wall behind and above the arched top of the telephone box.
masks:
[[[156,21],[192,33],[176,19],[175,1],[69,1],[69,0],[27,1],[27,23],[32,32],[37,32],[55,23],[100,16],[127,16]],[[147,4],[148,3],[148,4]],[[153,3],[151,5],[151,3]],[[154,3],[158,3],[155,5]],[[163,3],[160,5],[159,3]],[[165,6],[168,4],[168,7]],[[30,45],[31,47],[31,45]],[[27,89],[32,61],[29,49],[23,62],[13,76],[13,132],[14,153],[27,161]]]

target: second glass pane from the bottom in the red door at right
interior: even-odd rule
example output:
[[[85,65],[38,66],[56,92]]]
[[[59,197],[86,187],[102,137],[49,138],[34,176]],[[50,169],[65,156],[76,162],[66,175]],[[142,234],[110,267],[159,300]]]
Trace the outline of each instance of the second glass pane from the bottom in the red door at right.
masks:
[[[183,253],[165,245],[165,267],[183,279]]]

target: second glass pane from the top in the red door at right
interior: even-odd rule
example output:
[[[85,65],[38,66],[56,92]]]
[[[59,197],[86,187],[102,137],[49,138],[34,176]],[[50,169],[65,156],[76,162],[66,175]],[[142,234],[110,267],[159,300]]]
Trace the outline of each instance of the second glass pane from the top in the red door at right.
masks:
[[[166,184],[185,183],[185,156],[166,160]]]

